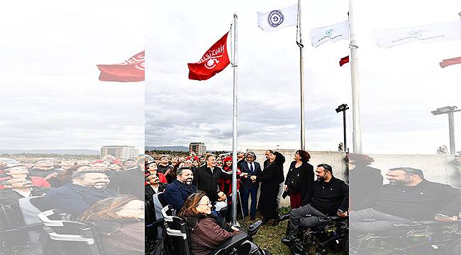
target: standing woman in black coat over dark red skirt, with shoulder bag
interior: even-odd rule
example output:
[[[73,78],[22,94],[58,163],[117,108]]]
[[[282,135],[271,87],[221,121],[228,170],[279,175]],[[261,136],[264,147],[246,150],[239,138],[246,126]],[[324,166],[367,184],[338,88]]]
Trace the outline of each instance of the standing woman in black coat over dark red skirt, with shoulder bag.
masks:
[[[294,154],[294,162],[290,164],[284,189],[290,196],[291,209],[301,206],[301,200],[313,184],[313,166],[308,163],[309,159],[309,152],[299,149]]]

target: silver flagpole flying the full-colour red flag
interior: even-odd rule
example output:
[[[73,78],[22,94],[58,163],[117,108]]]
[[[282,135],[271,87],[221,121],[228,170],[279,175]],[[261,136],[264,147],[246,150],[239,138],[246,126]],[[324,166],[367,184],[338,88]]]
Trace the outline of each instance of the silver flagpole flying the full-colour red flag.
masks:
[[[232,225],[237,226],[237,14],[233,17]]]

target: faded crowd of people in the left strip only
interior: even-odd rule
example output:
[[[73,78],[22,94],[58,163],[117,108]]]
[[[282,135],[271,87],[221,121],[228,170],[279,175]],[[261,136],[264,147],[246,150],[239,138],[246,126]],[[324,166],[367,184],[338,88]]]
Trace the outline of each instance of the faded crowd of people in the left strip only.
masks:
[[[13,231],[26,224],[19,200],[40,196],[36,205],[40,211],[59,209],[71,220],[91,222],[99,229],[104,254],[144,254],[144,186],[140,181],[144,174],[144,157],[121,160],[109,155],[92,161],[40,159],[32,164],[2,164],[0,230],[9,233],[0,239],[2,247],[11,248],[9,242],[24,239],[23,232]],[[16,248],[7,253],[18,249],[12,246]]]

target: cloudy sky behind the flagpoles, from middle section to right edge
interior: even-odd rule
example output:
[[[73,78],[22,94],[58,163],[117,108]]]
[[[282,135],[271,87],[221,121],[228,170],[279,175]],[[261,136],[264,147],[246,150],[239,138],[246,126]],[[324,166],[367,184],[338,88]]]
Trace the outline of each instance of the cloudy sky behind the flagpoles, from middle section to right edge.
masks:
[[[299,148],[299,48],[296,28],[265,33],[256,12],[297,1],[152,1],[146,17],[145,145],[205,142],[208,149],[232,147],[232,69],[208,81],[187,79],[196,62],[226,33],[238,14],[239,149]],[[362,147],[368,153],[434,154],[449,145],[448,118],[435,108],[460,106],[461,66],[438,62],[461,56],[461,41],[418,42],[382,49],[372,34],[382,28],[422,26],[460,18],[461,2],[356,1],[359,45]],[[396,8],[398,6],[398,8]],[[348,1],[304,1],[306,149],[336,150],[343,140],[335,108],[351,102],[348,41],[310,45],[313,28],[347,19]],[[148,11],[148,13],[150,13]],[[455,113],[456,114],[456,113]],[[455,120],[461,121],[457,114]],[[348,145],[352,147],[348,111]],[[461,137],[460,125],[456,136]],[[456,129],[455,129],[456,130]],[[458,142],[458,150],[461,142]]]

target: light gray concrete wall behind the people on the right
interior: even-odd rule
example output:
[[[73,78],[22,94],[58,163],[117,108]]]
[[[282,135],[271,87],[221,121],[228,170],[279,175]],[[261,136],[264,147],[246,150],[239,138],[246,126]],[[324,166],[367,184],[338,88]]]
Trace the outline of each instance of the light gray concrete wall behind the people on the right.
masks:
[[[256,161],[262,166],[265,161],[265,149],[248,149],[248,151],[255,152]],[[287,161],[284,164],[285,176],[289,169],[289,164],[294,160],[294,149],[279,149],[278,152],[282,153]],[[338,179],[345,179],[346,164],[344,162],[344,152],[309,152],[311,154],[310,164],[316,166],[318,164],[326,163],[333,166],[333,175]],[[380,169],[382,176],[384,176],[384,183],[387,183],[385,175],[391,168],[398,166],[410,166],[416,169],[423,170],[425,178],[429,181],[440,183],[448,183],[454,187],[461,188],[461,170],[453,167],[450,162],[453,157],[450,155],[419,155],[419,154],[369,154],[374,159],[371,164],[372,167]],[[289,205],[289,197],[282,200],[282,206]]]

